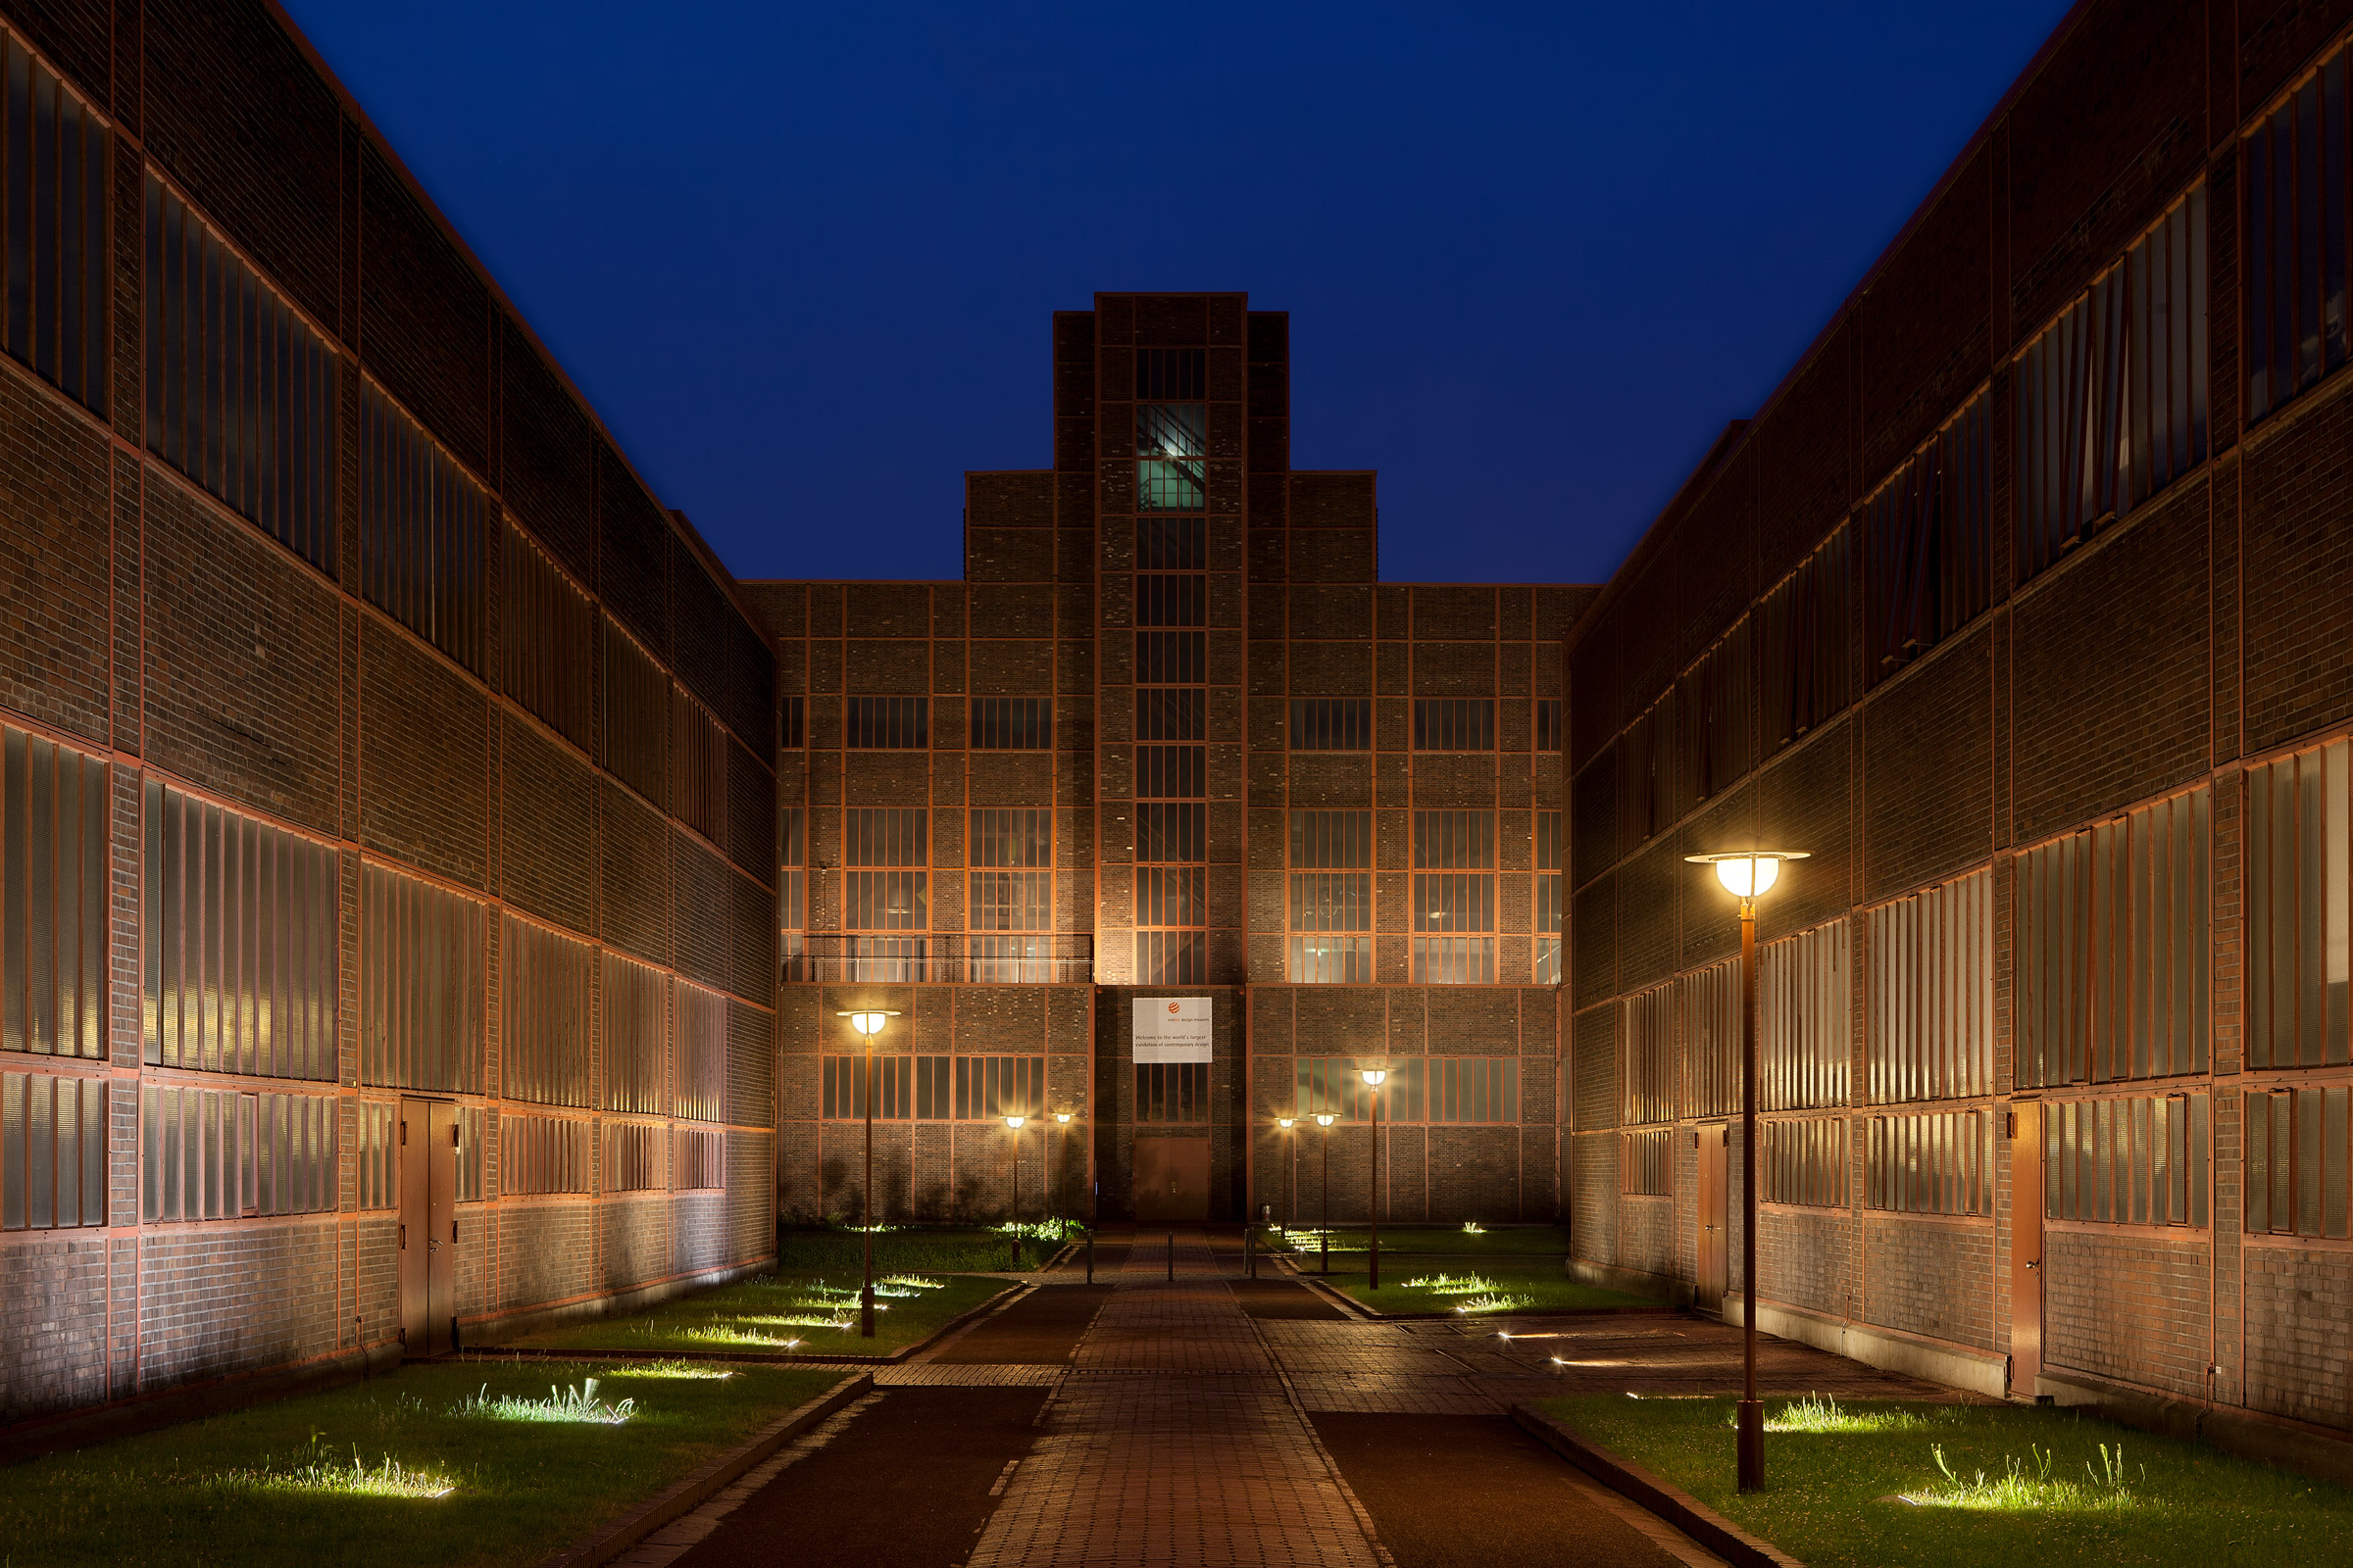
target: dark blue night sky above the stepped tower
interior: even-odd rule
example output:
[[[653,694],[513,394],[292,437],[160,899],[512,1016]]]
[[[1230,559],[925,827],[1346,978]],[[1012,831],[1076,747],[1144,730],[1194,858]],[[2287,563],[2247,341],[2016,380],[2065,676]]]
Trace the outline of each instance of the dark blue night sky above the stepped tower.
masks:
[[[1598,581],[2066,12],[287,2],[746,578],[958,576],[1049,310],[1247,289],[1384,578]]]

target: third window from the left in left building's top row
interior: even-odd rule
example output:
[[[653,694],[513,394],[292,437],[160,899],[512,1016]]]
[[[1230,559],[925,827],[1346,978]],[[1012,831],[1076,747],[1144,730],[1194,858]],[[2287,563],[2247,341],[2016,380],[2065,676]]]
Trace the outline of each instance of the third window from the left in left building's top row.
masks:
[[[360,381],[360,592],[482,670],[489,498],[374,381]]]

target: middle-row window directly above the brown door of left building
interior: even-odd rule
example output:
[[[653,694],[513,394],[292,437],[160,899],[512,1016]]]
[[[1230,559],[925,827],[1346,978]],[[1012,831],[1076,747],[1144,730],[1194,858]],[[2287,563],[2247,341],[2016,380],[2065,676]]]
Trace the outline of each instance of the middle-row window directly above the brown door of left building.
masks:
[[[360,1084],[482,1091],[482,905],[360,867]]]

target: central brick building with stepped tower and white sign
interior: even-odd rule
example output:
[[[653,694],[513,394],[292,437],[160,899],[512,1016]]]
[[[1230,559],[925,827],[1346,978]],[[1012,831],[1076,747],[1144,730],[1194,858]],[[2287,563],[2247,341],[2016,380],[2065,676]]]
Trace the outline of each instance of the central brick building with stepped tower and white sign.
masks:
[[[1351,1081],[1386,1065],[1386,1215],[1551,1218],[1593,590],[1379,583],[1374,477],[1289,465],[1289,322],[1240,294],[1099,294],[1052,355],[1054,468],[967,477],[962,581],[746,585],[784,705],[786,1213],[856,1213],[840,1013],[885,1006],[885,1213],[1000,1215],[1016,1157],[1031,1215],[1318,1213],[1325,1133],[1275,1119],[1329,1112],[1362,1218]],[[1179,997],[1207,1060],[1139,1060]]]

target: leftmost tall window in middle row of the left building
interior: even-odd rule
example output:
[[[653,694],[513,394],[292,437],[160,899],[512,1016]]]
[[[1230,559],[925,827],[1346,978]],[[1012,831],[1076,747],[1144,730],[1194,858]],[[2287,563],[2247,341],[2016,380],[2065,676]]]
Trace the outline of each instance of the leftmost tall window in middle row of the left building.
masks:
[[[106,1056],[108,816],[104,762],[0,726],[0,1051]]]

